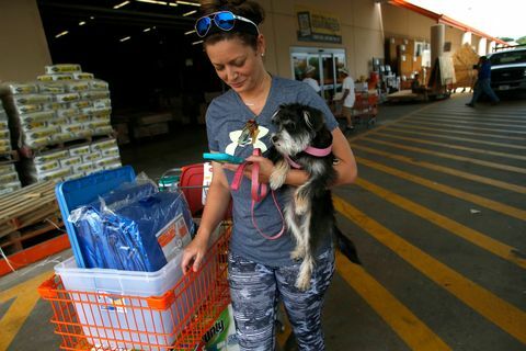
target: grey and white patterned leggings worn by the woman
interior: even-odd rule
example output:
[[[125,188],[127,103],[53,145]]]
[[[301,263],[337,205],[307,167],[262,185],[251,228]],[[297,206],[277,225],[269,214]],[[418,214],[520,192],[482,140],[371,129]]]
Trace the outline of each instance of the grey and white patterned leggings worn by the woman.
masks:
[[[279,298],[299,350],[324,350],[321,309],[323,295],[334,273],[333,249],[317,258],[310,288],[305,292],[295,286],[300,263],[268,267],[231,252],[228,260],[233,318],[241,350],[274,350],[274,318]]]

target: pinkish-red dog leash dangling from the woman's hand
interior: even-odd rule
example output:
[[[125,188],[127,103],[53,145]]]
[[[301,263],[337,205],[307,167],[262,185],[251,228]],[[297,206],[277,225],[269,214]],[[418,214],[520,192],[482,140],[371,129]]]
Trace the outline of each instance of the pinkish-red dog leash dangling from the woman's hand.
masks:
[[[261,150],[259,148],[255,148],[253,154],[254,156],[261,156]],[[232,180],[232,190],[237,191],[239,189],[239,185],[241,185],[241,181],[243,180],[243,171],[244,167],[248,165],[248,162],[243,162],[239,165],[238,169],[236,170],[236,173],[233,174],[233,180]],[[268,240],[275,240],[279,238],[283,233],[285,233],[285,218],[283,217],[282,210],[279,208],[279,204],[277,203],[276,195],[274,194],[274,191],[271,190],[272,193],[272,199],[274,200],[274,204],[276,205],[277,212],[279,213],[279,216],[282,217],[282,230],[279,233],[268,236],[261,231],[260,227],[255,223],[254,218],[254,206],[256,202],[263,201],[263,199],[266,197],[267,192],[268,192],[268,185],[267,184],[260,184],[260,163],[259,162],[253,162],[252,163],[252,173],[251,173],[251,180],[252,180],[252,185],[250,188],[251,196],[252,196],[252,204],[251,204],[251,215],[252,215],[252,224],[254,225],[255,229],[260,233],[262,237]]]

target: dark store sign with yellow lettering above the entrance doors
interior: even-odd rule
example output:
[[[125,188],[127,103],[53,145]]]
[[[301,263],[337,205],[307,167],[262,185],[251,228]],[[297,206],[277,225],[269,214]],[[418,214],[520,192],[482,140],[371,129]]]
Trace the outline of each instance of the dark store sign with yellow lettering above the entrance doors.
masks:
[[[298,41],[342,44],[340,20],[336,15],[297,5],[298,15]]]

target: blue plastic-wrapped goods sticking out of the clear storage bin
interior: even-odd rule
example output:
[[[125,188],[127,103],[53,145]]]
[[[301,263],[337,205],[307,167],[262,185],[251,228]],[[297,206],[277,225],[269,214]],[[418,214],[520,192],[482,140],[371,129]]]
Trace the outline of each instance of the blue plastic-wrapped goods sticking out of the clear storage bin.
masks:
[[[75,210],[68,219],[77,227],[85,268],[127,271],[158,271],[167,256],[187,244],[174,240],[180,222],[190,231],[187,240],[194,229],[182,193],[159,193],[148,182],[119,186],[100,203]]]

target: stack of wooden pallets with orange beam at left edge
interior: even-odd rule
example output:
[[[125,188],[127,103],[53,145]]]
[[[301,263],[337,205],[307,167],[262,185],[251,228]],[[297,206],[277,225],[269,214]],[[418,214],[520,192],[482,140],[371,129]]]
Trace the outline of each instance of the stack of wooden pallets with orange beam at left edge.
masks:
[[[0,276],[69,246],[55,197],[55,182],[0,196]]]

